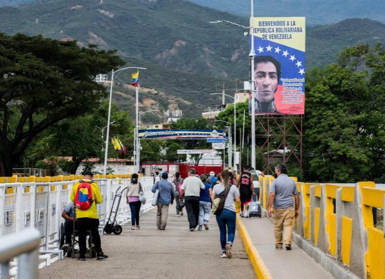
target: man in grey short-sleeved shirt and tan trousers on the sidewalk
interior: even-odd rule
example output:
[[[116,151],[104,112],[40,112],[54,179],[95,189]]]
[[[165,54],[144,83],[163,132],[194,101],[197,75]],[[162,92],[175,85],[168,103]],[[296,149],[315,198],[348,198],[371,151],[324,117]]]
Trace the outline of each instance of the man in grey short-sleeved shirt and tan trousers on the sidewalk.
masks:
[[[284,242],[286,250],[291,250],[293,218],[297,218],[298,208],[300,206],[297,184],[287,176],[287,168],[285,165],[278,164],[275,167],[275,173],[277,174],[277,178],[272,181],[269,197],[269,217],[273,216],[274,220],[275,248],[282,249]],[[272,210],[273,205],[274,213]],[[283,242],[282,230],[285,234]]]

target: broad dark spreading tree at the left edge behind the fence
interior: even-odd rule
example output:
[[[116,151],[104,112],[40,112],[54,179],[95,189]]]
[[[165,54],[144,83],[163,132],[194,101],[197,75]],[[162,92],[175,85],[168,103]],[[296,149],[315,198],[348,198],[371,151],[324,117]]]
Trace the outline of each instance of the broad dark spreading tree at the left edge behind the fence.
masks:
[[[0,33],[1,175],[12,173],[39,133],[60,120],[92,112],[106,96],[95,76],[124,62],[116,51],[95,47]]]

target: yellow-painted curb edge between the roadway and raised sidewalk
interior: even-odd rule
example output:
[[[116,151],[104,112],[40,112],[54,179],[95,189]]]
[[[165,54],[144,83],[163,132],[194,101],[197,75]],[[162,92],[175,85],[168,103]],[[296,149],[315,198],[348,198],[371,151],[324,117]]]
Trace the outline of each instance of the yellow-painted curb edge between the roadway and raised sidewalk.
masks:
[[[258,279],[272,279],[269,269],[265,265],[261,255],[251,241],[250,235],[247,232],[245,225],[240,218],[236,218],[236,224],[239,230],[239,234],[243,240],[243,244],[246,248],[246,254],[249,257],[251,264],[254,267],[255,274]]]

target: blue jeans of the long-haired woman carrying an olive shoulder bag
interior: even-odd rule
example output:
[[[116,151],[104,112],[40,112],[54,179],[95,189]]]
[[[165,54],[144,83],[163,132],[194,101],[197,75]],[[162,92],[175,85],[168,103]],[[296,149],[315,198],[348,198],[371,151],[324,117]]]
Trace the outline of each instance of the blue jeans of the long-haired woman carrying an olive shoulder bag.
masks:
[[[226,244],[232,243],[235,237],[235,211],[224,208],[221,214],[217,215],[217,223],[220,232],[221,247],[222,251],[226,251]],[[227,231],[227,241],[226,241],[226,231]]]

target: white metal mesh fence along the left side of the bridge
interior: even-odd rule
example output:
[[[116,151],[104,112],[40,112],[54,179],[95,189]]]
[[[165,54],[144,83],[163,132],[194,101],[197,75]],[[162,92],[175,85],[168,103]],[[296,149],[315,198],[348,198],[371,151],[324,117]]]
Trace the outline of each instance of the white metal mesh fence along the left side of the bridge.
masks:
[[[109,217],[116,190],[119,193],[129,186],[130,179],[95,179],[100,188],[103,202],[97,205],[100,232]],[[40,235],[40,254],[48,256],[45,264],[63,258],[63,251],[59,247],[59,228],[64,223],[61,217],[64,206],[70,200],[71,190],[77,180],[60,182],[25,182],[0,183],[0,241],[2,237],[15,234],[26,228],[36,228]],[[152,208],[153,177],[140,177],[143,192],[147,202],[142,205],[141,212]],[[9,191],[9,189],[12,189]],[[8,191],[7,191],[8,190]],[[9,194],[7,194],[9,193]],[[123,225],[130,221],[131,213],[125,200],[126,190],[122,193],[122,200],[116,212],[116,222]],[[114,208],[116,209],[116,207]],[[114,210],[115,211],[115,210]],[[43,264],[44,265],[44,264]],[[41,265],[40,265],[41,267]]]

